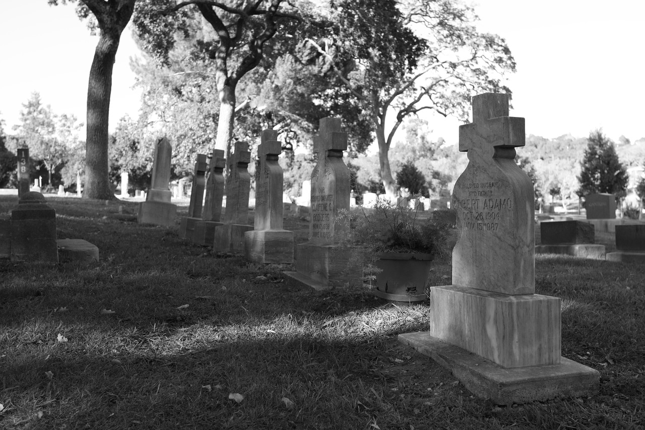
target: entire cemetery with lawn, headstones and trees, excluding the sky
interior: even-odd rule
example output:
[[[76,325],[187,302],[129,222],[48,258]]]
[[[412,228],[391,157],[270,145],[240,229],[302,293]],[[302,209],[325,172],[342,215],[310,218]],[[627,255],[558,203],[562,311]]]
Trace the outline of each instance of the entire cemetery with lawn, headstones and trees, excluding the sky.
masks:
[[[0,428],[645,428],[629,139],[528,133],[458,1],[161,3],[0,118]]]

